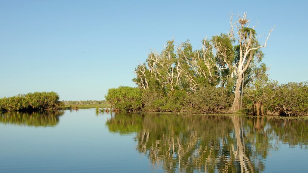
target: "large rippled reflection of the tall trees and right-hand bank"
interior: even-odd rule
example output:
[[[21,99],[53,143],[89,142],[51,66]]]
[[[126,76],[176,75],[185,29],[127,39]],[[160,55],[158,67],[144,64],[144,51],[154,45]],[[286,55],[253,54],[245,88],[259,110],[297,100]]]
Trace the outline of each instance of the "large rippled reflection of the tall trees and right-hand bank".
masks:
[[[262,172],[276,141],[305,148],[308,141],[303,119],[120,113],[106,125],[136,133],[137,151],[166,172]]]

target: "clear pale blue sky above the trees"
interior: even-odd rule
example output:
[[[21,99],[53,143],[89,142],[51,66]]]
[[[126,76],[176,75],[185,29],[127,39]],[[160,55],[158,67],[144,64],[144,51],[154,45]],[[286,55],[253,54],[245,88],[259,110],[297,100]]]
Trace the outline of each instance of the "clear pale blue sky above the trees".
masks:
[[[0,98],[55,91],[60,100],[102,100],[108,88],[136,86],[134,69],[172,38],[201,47],[247,12],[257,34],[272,32],[270,78],[307,81],[307,1],[0,0]],[[234,18],[236,19],[236,18]]]

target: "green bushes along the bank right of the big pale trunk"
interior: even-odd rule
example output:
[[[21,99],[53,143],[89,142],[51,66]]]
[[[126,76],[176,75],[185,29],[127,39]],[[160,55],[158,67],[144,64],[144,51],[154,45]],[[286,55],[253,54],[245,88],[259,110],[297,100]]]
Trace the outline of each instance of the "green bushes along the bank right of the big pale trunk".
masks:
[[[246,108],[256,115],[308,116],[308,83],[278,85],[270,80],[256,80],[245,89]]]

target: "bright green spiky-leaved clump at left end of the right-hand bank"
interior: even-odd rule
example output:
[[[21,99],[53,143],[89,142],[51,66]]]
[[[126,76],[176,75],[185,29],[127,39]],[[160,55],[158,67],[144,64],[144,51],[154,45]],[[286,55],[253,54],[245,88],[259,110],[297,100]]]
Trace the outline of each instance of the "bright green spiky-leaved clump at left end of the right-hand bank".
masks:
[[[142,107],[141,95],[139,88],[120,86],[108,89],[105,99],[117,111],[139,111]]]

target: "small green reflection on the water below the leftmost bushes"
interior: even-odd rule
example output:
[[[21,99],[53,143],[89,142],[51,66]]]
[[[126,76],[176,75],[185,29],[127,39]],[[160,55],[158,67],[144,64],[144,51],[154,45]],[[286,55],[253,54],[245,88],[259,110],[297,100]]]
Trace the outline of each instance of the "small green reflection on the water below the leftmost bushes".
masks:
[[[56,126],[59,116],[63,114],[64,111],[5,112],[0,113],[0,123],[34,127]]]

